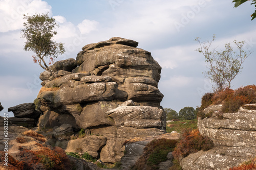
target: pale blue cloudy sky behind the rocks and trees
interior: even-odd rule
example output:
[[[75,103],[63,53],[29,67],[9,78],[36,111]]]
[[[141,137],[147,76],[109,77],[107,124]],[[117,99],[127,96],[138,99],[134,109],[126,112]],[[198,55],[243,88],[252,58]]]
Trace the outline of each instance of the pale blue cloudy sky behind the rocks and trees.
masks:
[[[224,48],[234,39],[245,40],[254,51],[232,82],[236,89],[256,84],[256,20],[249,2],[233,8],[232,0],[0,0],[0,102],[4,110],[33,102],[40,89],[40,72],[32,52],[25,52],[23,14],[47,13],[59,24],[57,42],[65,43],[66,53],[57,60],[76,58],[88,43],[123,37],[139,42],[138,47],[152,53],[162,66],[159,89],[164,94],[161,106],[177,112],[186,106],[196,108],[201,96],[211,91],[196,37],[211,39]],[[57,61],[56,60],[56,61]],[[10,113],[12,116],[12,113]]]

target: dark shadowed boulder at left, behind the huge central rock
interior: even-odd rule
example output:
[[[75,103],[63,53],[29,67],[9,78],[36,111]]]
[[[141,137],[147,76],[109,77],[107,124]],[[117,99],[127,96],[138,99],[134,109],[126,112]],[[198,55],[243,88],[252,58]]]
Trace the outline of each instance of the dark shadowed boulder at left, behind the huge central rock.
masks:
[[[24,103],[14,107],[8,108],[8,112],[13,112],[15,117],[38,118],[41,114],[39,110],[35,109],[34,103]]]

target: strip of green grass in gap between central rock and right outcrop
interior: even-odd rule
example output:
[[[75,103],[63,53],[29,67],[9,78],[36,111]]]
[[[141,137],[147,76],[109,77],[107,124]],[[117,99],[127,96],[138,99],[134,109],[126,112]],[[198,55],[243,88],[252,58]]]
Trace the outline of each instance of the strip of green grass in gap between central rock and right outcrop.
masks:
[[[197,129],[197,119],[193,120],[178,120],[166,124],[166,132],[170,133],[177,131],[181,133],[184,129]]]

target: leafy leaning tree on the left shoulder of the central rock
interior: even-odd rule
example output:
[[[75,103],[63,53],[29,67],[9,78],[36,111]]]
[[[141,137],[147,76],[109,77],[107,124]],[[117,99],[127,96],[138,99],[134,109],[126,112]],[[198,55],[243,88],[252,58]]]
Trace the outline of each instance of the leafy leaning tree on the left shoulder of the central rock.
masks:
[[[24,15],[24,29],[22,30],[22,38],[26,39],[25,51],[33,51],[33,60],[35,63],[52,73],[54,77],[57,77],[55,72],[49,68],[45,62],[45,58],[50,59],[49,64],[53,63],[53,58],[57,58],[58,55],[65,53],[63,43],[57,43],[53,41],[53,36],[57,34],[54,31],[55,27],[58,27],[54,18],[50,18],[48,14],[35,14],[33,16]],[[42,63],[43,64],[42,64]]]

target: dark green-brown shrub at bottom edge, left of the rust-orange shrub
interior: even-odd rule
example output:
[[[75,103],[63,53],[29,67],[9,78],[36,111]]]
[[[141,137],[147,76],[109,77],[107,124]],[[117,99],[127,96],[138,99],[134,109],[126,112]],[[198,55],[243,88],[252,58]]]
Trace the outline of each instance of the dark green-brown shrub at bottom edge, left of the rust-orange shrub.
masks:
[[[171,139],[154,139],[147,143],[143,155],[135,163],[133,169],[158,169],[160,162],[167,160],[167,154],[175,148],[177,140]]]

